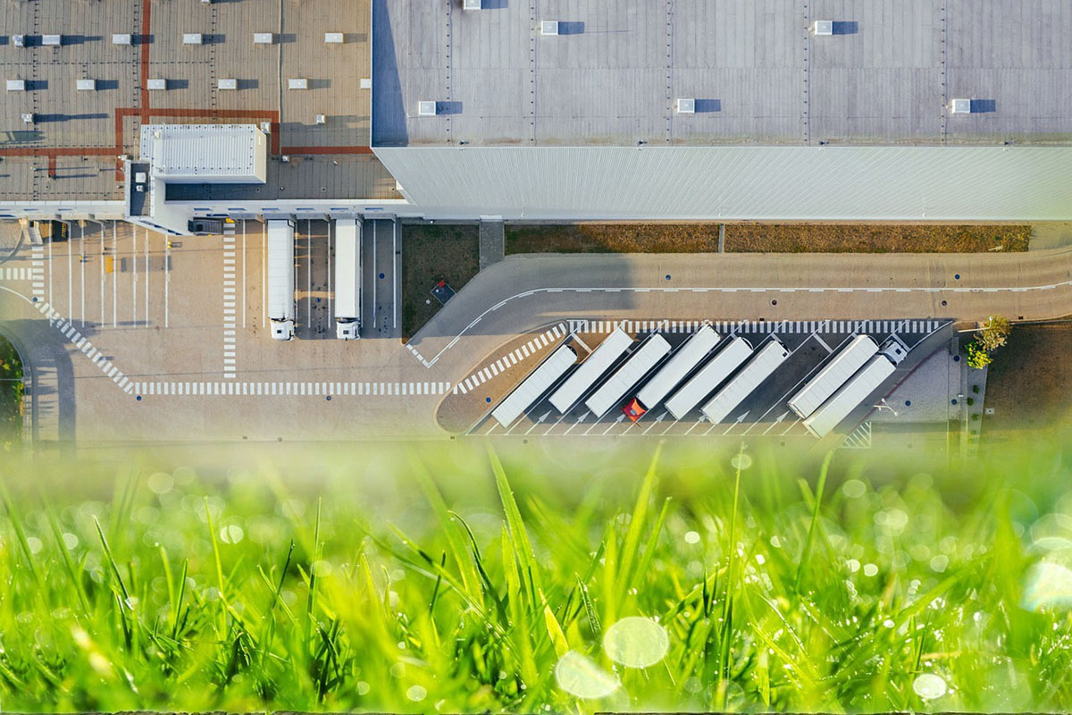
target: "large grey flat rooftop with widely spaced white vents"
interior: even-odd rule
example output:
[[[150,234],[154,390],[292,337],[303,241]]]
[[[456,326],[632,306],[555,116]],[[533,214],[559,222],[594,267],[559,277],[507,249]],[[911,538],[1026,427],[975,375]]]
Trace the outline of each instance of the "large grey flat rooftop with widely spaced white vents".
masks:
[[[373,0],[374,146],[1072,144],[1068,0],[483,3]]]

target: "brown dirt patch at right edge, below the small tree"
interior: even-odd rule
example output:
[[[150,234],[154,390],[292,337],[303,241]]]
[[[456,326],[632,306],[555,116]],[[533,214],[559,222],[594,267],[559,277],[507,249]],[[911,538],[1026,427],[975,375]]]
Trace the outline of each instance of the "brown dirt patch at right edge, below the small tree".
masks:
[[[1014,326],[986,377],[985,433],[1072,421],[1072,322]]]

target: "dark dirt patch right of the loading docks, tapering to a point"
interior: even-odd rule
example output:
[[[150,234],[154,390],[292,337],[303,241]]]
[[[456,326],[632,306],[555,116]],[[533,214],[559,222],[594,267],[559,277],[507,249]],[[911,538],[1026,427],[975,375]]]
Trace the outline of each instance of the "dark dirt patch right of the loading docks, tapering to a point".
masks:
[[[443,308],[431,293],[440,281],[461,291],[479,269],[478,224],[402,224],[402,339]]]

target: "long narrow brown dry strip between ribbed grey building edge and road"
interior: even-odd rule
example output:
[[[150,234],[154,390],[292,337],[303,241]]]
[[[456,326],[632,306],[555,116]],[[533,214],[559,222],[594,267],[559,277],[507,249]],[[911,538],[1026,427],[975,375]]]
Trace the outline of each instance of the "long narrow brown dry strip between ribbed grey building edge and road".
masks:
[[[506,253],[710,253],[717,223],[506,225]],[[725,250],[751,253],[980,253],[1026,251],[1031,226],[726,224]]]

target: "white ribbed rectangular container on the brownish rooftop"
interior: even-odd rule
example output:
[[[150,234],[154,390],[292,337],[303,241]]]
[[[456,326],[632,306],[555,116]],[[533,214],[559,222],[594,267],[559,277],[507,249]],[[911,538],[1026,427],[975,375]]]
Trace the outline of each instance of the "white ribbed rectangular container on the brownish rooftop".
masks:
[[[142,161],[169,183],[265,183],[268,140],[256,124],[146,124]]]

